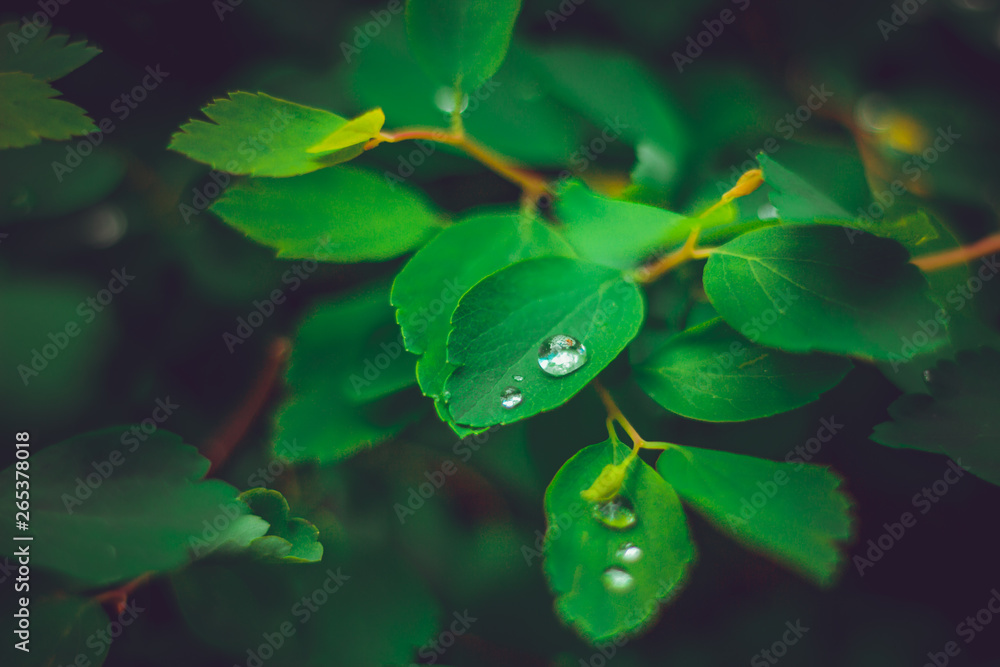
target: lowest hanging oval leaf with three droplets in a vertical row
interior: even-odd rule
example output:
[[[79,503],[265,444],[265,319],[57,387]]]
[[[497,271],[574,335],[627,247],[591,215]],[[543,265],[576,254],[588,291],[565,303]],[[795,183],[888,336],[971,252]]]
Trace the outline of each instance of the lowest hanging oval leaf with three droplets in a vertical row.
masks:
[[[623,461],[628,452],[610,440],[586,447],[545,491],[545,574],[556,611],[593,643],[651,625],[695,556],[677,494],[642,459],[629,466],[618,497],[601,506],[618,527],[580,498],[604,466]]]

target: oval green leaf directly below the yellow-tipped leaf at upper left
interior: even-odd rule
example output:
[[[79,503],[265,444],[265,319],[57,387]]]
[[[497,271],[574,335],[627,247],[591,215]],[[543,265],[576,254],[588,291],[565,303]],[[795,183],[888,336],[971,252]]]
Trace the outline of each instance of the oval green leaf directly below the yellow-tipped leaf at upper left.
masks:
[[[241,181],[211,210],[278,257],[327,262],[397,257],[440,224],[417,190],[353,167]]]

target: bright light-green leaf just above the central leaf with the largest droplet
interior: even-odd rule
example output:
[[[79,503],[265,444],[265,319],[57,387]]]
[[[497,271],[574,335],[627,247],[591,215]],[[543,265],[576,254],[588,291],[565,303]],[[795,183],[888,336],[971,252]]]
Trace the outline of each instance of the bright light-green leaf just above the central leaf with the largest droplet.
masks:
[[[583,259],[616,269],[635,268],[657,250],[680,245],[696,221],[654,206],[602,197],[580,181],[557,194],[555,213],[566,240]]]

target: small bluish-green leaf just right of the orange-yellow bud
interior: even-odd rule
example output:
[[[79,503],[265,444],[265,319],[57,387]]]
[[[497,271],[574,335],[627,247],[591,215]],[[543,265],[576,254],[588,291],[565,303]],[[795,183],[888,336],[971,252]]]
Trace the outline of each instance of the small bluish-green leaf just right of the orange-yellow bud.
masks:
[[[789,144],[780,160],[759,153],[771,203],[786,222],[854,220],[867,215],[871,192],[857,151]]]

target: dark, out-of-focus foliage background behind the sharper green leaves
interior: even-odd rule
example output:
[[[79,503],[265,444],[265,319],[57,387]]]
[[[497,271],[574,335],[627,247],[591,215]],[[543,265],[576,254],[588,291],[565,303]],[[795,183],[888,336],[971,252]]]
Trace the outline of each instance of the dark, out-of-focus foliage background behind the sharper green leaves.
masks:
[[[552,176],[570,169],[595,189],[676,211],[716,199],[719,184],[731,185],[770,138],[787,159],[796,150],[859,149],[875,192],[902,179],[904,197],[923,199],[960,240],[996,229],[1000,3],[911,2],[916,11],[891,31],[879,23],[892,20],[888,2],[743,5],[528,0],[510,57],[495,77],[500,85],[481,100],[473,96],[466,127]],[[60,6],[55,32],[86,38],[103,53],[59,88],[93,119],[111,118],[115,129],[62,182],[51,164],[65,161],[79,140],[0,152],[0,432],[29,430],[38,448],[140,421],[156,399],[169,397],[180,408],[162,427],[207,448],[245,413],[251,388],[273,365],[275,340],[294,338],[311,307],[359,291],[384,303],[386,281],[404,259],[320,265],[294,283],[285,278],[300,263],[275,259],[211,213],[185,219],[180,206],[197,207],[196,193],[211,193],[212,180],[206,168],[166,145],[198,109],[232,90],[259,90],[344,116],[381,106],[388,128],[443,126],[440,91],[407,53],[402,16],[371,29],[378,26],[371,12],[385,9],[377,0]],[[703,21],[724,9],[735,21],[679,72],[675,52],[684,53],[688,38],[706,30]],[[33,2],[6,2],[0,19],[37,10]],[[366,25],[377,34],[365,35]],[[114,100],[142,80],[147,66],[169,75],[121,118]],[[833,92],[829,101],[786,136],[782,119],[821,86]],[[615,117],[628,128],[581,168],[582,147]],[[960,139],[911,181],[907,165],[947,127]],[[385,145],[359,164],[395,172],[412,150]],[[832,157],[813,166],[827,176],[840,170]],[[636,185],[629,187],[632,175]],[[408,182],[449,213],[518,196],[444,148]],[[766,188],[741,201],[748,218],[765,217],[767,206]],[[88,321],[80,304],[122,267],[134,282]],[[682,271],[650,290],[654,330],[674,330],[681,310],[689,322],[697,319],[704,298],[689,303],[690,282]],[[223,334],[275,289],[287,301],[230,352]],[[970,307],[995,329],[1000,281],[985,283]],[[367,329],[345,318],[345,331],[325,348],[312,341],[317,364],[356,364],[368,354],[364,340],[394,340],[387,304],[383,315]],[[80,324],[80,336],[24,386],[17,366],[30,363],[32,350],[69,322]],[[384,334],[372,334],[379,326]],[[665,416],[624,375],[615,365],[608,371],[633,423],[658,439],[780,459],[815,434],[820,418],[836,417],[845,428],[814,462],[840,471],[857,501],[852,555],[867,550],[883,523],[913,511],[914,494],[946,468],[940,456],[868,440],[900,394],[870,366],[859,365],[818,403],[736,424]],[[283,451],[275,433],[282,397],[279,387],[218,473],[241,490]],[[603,664],[559,623],[540,561],[528,565],[521,553],[544,530],[542,493],[552,475],[580,448],[603,440],[597,398],[583,392],[560,410],[491,433],[467,460],[428,399],[411,389],[393,401],[369,405],[386,414],[364,420],[352,416],[356,411],[341,414],[340,406],[306,406],[312,412],[304,419],[317,429],[339,430],[341,420],[344,429],[365,428],[369,418],[392,418],[387,428],[394,437],[335,465],[272,467],[267,485],[285,494],[293,515],[319,527],[327,549],[322,564],[211,559],[154,580],[136,593],[146,611],[115,641],[106,664],[246,664],[246,650],[260,644],[261,633],[289,620],[295,600],[337,566],[352,577],[344,592],[267,664],[430,664],[431,655],[453,665]],[[9,465],[12,448],[0,457],[0,467]],[[427,481],[425,473],[448,460],[457,471],[401,524],[394,505],[406,503],[410,490]],[[998,500],[995,487],[966,476],[864,576],[848,563],[830,591],[747,552],[689,513],[699,565],[660,622],[617,649],[614,663],[746,664],[780,639],[786,621],[801,620],[809,631],[781,658],[784,665],[914,665],[948,641],[960,641],[955,664],[997,664],[1000,624],[968,645],[956,625],[1000,584],[990,518]],[[36,577],[36,599],[58,588]],[[8,579],[5,596],[9,585]],[[68,612],[72,603],[52,604],[53,618],[76,613],[101,627],[93,605]],[[443,656],[417,654],[465,610],[478,620],[453,647]],[[86,652],[95,661],[104,657]]]

